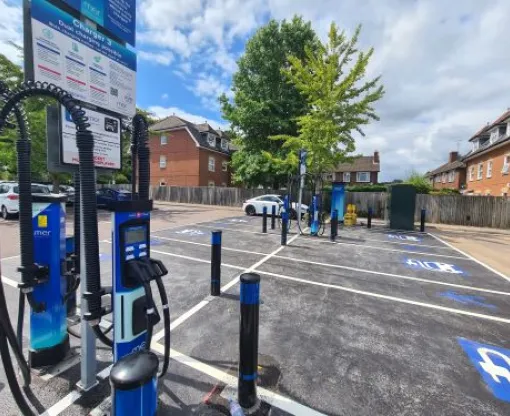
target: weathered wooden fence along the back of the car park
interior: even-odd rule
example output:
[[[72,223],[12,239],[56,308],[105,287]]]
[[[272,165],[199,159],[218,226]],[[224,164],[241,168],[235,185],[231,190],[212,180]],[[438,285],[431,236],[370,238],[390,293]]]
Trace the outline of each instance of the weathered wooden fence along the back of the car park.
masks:
[[[130,185],[114,185],[131,189]],[[240,207],[250,198],[266,193],[285,193],[268,189],[241,189],[223,187],[155,186],[150,195],[156,201],[187,204],[221,205]],[[329,194],[324,194],[327,208]],[[304,203],[309,203],[305,195]],[[366,215],[371,207],[374,218],[387,219],[389,198],[386,192],[346,192],[346,203],[356,204],[359,215]],[[417,195],[415,221],[420,211],[427,210],[427,222],[436,224],[471,225],[476,227],[510,228],[510,199],[498,196]]]

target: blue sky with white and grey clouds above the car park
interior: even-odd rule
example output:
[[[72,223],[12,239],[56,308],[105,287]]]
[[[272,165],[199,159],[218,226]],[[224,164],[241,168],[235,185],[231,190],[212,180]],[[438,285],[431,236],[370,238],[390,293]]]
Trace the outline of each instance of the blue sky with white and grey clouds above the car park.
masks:
[[[357,136],[356,153],[378,150],[382,181],[404,179],[468,150],[469,138],[510,107],[508,0],[138,0],[137,104],[157,117],[228,127],[217,97],[246,41],[269,19],[298,14],[325,39],[332,21],[363,25],[381,75],[381,120]],[[0,0],[0,53],[19,61],[21,0]]]

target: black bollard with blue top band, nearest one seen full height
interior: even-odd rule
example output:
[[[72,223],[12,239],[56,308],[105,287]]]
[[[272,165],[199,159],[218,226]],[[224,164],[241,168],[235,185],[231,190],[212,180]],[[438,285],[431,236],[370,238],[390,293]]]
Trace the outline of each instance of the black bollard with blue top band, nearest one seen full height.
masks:
[[[239,325],[239,382],[237,399],[244,410],[254,410],[257,399],[259,354],[260,276],[243,273],[241,280],[241,320]]]

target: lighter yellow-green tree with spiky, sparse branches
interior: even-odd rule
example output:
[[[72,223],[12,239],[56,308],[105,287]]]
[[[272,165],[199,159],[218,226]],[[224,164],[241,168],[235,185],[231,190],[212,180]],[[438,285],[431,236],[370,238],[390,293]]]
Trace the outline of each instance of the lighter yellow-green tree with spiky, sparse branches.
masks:
[[[289,152],[284,159],[266,153],[275,162],[295,168],[299,149],[308,151],[310,172],[331,171],[338,163],[349,160],[355,150],[353,133],[364,136],[362,127],[378,120],[373,104],[384,94],[380,78],[366,80],[366,69],[374,49],[357,47],[361,26],[348,39],[345,32],[331,24],[327,43],[305,48],[305,57],[289,56],[290,65],[283,69],[290,85],[308,103],[309,111],[297,117],[297,135],[275,135]]]

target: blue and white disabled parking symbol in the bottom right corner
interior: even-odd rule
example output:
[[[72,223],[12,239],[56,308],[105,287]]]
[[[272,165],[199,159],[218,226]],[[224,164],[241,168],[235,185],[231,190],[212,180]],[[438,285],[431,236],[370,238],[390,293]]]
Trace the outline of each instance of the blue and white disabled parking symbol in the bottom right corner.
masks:
[[[492,394],[510,402],[510,350],[465,338],[458,341]]]

